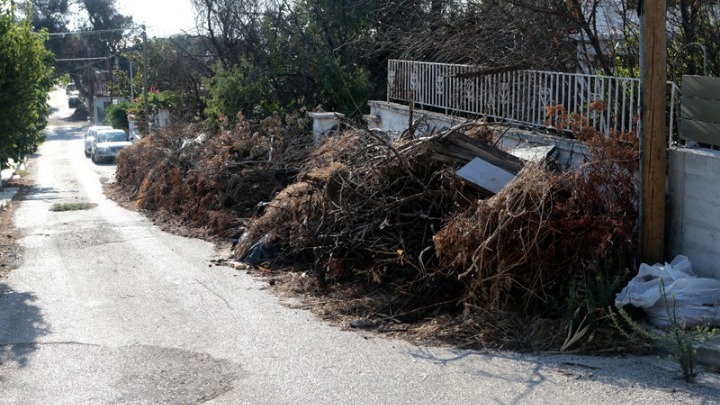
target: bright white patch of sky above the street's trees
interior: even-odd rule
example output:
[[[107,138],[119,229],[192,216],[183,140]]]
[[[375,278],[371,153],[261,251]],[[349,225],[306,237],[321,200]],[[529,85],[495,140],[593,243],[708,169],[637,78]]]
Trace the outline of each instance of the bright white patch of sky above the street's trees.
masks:
[[[195,32],[195,9],[191,0],[116,0],[118,11],[145,24],[149,37]]]

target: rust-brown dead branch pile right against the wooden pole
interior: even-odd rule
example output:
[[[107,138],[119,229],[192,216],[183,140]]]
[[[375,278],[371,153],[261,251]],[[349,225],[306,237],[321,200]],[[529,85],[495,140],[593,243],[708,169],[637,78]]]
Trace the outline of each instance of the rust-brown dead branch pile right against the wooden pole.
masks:
[[[527,166],[434,237],[472,309],[558,316],[609,305],[636,251],[634,137],[587,139],[577,171]]]

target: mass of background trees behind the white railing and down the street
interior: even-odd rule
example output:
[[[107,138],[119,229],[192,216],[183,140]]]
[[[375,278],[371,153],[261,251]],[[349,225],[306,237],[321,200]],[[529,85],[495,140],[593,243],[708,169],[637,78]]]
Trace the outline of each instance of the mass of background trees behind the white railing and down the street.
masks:
[[[86,98],[94,96],[93,83],[107,77],[113,96],[138,98],[140,31],[117,11],[117,0],[17,2],[32,3],[35,30],[67,32],[75,7],[73,22],[81,31],[102,31],[53,36],[48,43],[58,59],[113,56],[57,64],[58,73],[69,72]],[[197,34],[149,39],[146,79],[149,87],[173,93],[180,120],[205,120],[213,127],[232,123],[238,113],[251,118],[299,104],[359,116],[368,99],[385,98],[389,58],[495,70],[637,72],[637,0],[192,2]],[[717,4],[668,3],[670,79],[703,73],[705,64],[708,74],[717,74]]]

